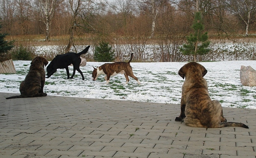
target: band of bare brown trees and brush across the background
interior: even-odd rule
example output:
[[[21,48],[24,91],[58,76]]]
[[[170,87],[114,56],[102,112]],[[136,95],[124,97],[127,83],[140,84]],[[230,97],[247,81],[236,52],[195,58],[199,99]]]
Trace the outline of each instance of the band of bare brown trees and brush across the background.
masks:
[[[154,42],[161,61],[172,62],[184,58],[180,47],[194,32],[198,11],[210,38],[256,31],[255,0],[1,0],[0,22],[9,35],[44,34],[46,41],[64,36],[63,52],[81,37],[93,44],[130,44],[134,58],[143,61],[145,45]],[[121,50],[115,51],[122,60]]]

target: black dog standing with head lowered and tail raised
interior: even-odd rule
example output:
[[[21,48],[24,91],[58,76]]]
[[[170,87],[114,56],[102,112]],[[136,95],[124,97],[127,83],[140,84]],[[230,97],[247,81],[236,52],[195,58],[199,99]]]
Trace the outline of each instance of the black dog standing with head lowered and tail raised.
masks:
[[[61,54],[61,55],[57,55],[54,59],[52,59],[52,62],[50,62],[50,64],[47,66],[47,77],[49,78],[50,76],[52,76],[53,73],[55,73],[57,71],[58,68],[65,68],[67,71],[67,79],[73,79],[76,70],[81,74],[82,79],[84,80],[84,75],[82,73],[82,71],[80,70],[80,63],[81,63],[81,59],[80,56],[82,54],[86,54],[87,51],[89,50],[90,45],[87,46],[83,51],[81,51],[80,53],[73,53],[73,52],[69,52],[66,54]],[[68,70],[68,66],[70,64],[73,64],[73,74],[70,77],[70,73]]]

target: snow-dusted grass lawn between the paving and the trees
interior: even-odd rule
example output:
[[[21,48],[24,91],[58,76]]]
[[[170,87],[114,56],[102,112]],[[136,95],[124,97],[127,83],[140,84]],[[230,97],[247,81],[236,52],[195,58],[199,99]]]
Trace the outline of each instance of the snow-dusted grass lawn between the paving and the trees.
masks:
[[[19,85],[29,71],[31,61],[14,61],[16,74],[0,74],[0,92],[20,93]],[[242,86],[240,82],[241,65],[256,69],[256,61],[199,62],[208,71],[204,77],[208,82],[209,95],[217,99],[223,107],[256,109],[256,87]],[[118,74],[105,84],[104,76],[92,80],[93,66],[103,62],[87,62],[81,67],[85,80],[76,71],[74,79],[67,79],[65,69],[58,69],[46,79],[44,92],[49,96],[71,96],[97,99],[130,100],[136,102],[158,102],[180,104],[181,87],[184,80],[178,75],[186,62],[131,62],[134,75],[141,85],[130,77],[125,85],[125,76]],[[70,73],[73,67],[70,66]],[[70,76],[71,76],[70,74]]]

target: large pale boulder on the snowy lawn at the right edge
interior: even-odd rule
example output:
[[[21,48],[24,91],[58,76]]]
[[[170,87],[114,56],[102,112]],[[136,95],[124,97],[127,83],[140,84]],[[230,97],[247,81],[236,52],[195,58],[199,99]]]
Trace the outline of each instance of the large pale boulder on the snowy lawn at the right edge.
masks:
[[[244,86],[256,86],[256,70],[251,66],[241,66],[240,81]]]

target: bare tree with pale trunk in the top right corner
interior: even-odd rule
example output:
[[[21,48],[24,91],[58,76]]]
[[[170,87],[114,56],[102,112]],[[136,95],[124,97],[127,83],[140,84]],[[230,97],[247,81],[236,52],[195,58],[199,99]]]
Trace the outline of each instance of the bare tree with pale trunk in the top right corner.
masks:
[[[249,25],[256,14],[256,0],[227,0],[229,10],[246,25],[245,36],[248,36]]]

